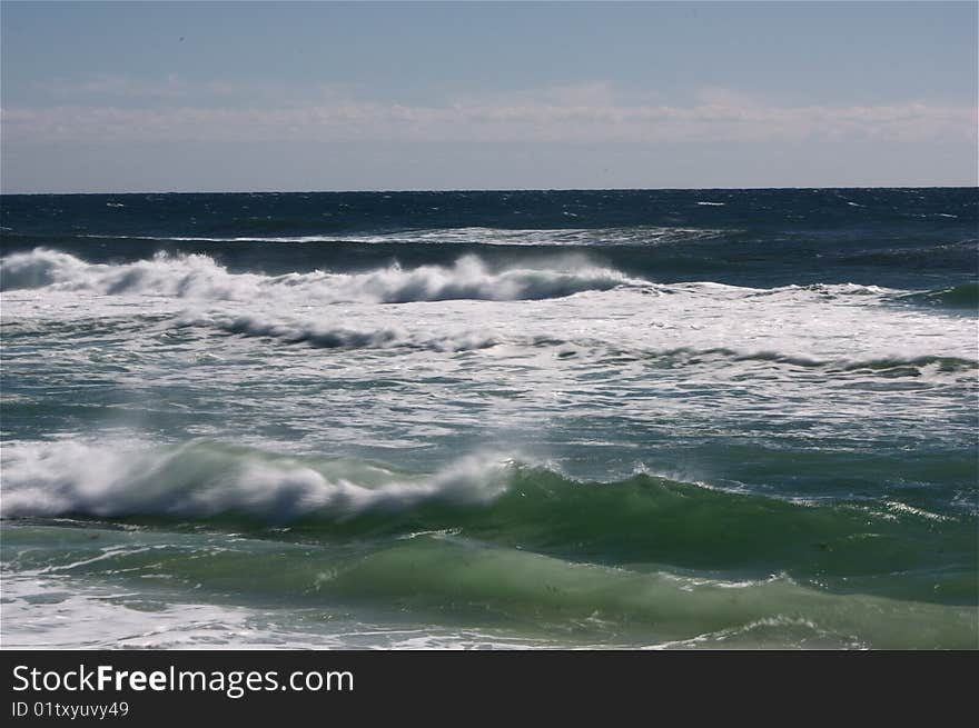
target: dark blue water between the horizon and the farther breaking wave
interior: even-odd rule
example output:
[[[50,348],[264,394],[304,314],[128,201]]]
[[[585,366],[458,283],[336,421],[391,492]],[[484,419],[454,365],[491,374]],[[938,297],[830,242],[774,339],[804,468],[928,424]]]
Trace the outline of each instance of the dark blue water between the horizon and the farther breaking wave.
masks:
[[[367,269],[390,260],[419,266],[465,252],[518,260],[554,250],[533,240],[487,248],[478,236],[452,247],[418,246],[411,245],[412,233],[605,230],[572,237],[562,251],[597,253],[631,275],[664,282],[708,276],[735,286],[913,288],[975,282],[979,206],[970,188],[4,196],[0,220],[4,250],[56,246],[92,262],[166,250],[280,273]],[[661,239],[657,230],[679,232]],[[350,236],[387,241],[344,242]],[[307,246],[296,256],[265,242],[304,237],[334,245]],[[221,238],[251,240],[215,240]]]

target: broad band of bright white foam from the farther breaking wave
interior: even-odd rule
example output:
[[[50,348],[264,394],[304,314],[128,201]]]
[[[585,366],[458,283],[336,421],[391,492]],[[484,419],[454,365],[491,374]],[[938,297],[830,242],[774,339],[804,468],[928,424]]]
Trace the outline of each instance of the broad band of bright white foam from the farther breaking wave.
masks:
[[[253,338],[259,353],[273,351],[258,341],[263,338],[323,349],[483,350],[494,361],[518,361],[522,390],[548,397],[545,392],[580,389],[576,363],[620,355],[665,356],[683,369],[709,356],[712,366],[698,376],[725,381],[748,368],[785,365],[824,367],[843,377],[860,376],[861,367],[872,373],[908,365],[922,379],[959,380],[971,376],[967,370],[976,361],[975,323],[893,306],[900,291],[856,283],[773,289],[710,281],[657,285],[582,258],[562,257],[548,269],[491,269],[469,256],[454,266],[263,276],[231,273],[207,256],[109,266],[34,250],[3,258],[0,272],[9,287],[2,295],[4,325],[13,327],[8,331],[96,317],[111,320],[118,333],[128,322],[125,347],[139,356],[157,341],[168,343],[175,326],[188,325],[205,336],[188,331],[177,341],[195,356],[210,356],[222,346],[208,329]],[[23,286],[38,288],[13,290]],[[554,298],[513,300],[545,296]],[[390,301],[405,305],[378,305]],[[51,343],[66,337],[66,358],[88,356],[76,346],[76,329],[44,325],[43,330]],[[553,347],[542,346],[552,343],[573,348],[573,356],[556,366]],[[227,346],[233,347],[228,356],[240,351],[235,341]],[[425,366],[437,375],[457,373],[447,358]],[[623,367],[631,365],[615,366],[622,380]],[[392,367],[377,363],[374,376],[403,376]],[[220,375],[208,370],[208,376]],[[467,370],[466,377],[484,375]],[[498,372],[487,370],[485,378],[495,386]]]

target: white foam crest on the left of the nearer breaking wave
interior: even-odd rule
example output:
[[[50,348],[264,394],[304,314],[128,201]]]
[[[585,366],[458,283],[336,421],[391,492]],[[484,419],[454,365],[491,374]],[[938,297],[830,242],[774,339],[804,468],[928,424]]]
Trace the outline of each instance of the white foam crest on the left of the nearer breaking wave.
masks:
[[[511,462],[473,455],[423,477],[358,461],[271,456],[208,441],[178,447],[7,443],[0,516],[230,513],[284,522],[316,515],[342,520],[427,500],[493,500],[506,489]]]

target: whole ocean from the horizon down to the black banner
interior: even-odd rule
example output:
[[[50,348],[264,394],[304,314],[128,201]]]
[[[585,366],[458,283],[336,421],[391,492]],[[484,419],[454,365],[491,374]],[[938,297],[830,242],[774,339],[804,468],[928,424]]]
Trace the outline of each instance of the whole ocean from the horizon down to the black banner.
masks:
[[[979,648],[979,191],[0,198],[8,648]]]

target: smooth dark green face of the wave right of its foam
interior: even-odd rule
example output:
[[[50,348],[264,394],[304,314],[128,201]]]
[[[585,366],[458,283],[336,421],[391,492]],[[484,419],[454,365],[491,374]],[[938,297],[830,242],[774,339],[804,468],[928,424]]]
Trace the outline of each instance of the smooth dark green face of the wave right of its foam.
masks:
[[[802,503],[645,475],[578,482],[544,468],[513,466],[506,490],[487,503],[429,500],[396,513],[312,515],[290,532],[343,542],[451,531],[572,561],[669,565],[752,578],[785,572],[840,586],[940,560],[952,576],[940,594],[924,598],[968,600],[977,582],[961,575],[976,572],[976,525],[972,516],[937,517],[897,501]]]

